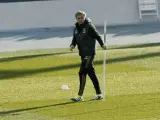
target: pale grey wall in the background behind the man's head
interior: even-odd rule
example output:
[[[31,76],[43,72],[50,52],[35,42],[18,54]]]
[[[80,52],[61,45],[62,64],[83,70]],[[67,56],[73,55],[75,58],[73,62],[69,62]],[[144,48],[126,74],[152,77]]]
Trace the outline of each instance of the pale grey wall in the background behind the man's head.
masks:
[[[160,6],[160,0],[159,6]],[[73,26],[77,10],[86,11],[96,25],[139,22],[138,0],[56,0],[0,3],[0,30]]]

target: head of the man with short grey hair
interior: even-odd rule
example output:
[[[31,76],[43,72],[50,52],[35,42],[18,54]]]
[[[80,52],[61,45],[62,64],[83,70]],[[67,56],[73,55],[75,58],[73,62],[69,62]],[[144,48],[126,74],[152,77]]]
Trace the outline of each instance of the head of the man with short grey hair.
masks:
[[[86,13],[84,11],[78,11],[76,14],[75,14],[75,17],[76,17],[76,20],[78,22],[78,24],[83,24],[85,19],[86,19]]]

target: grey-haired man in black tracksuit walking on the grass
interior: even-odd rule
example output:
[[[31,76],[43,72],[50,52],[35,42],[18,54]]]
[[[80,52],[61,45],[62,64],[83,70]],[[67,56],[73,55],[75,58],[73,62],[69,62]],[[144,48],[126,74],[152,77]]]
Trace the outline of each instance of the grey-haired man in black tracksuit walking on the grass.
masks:
[[[79,55],[81,56],[81,67],[79,71],[79,92],[77,98],[71,98],[72,101],[78,102],[83,100],[83,92],[86,84],[86,76],[90,77],[93,82],[94,88],[96,90],[97,96],[92,100],[103,99],[99,81],[95,74],[95,69],[93,67],[93,60],[95,56],[96,40],[99,42],[101,47],[106,50],[100,34],[91,23],[91,20],[86,17],[86,13],[79,11],[75,14],[77,23],[75,24],[73,39],[70,45],[71,51],[78,46]]]

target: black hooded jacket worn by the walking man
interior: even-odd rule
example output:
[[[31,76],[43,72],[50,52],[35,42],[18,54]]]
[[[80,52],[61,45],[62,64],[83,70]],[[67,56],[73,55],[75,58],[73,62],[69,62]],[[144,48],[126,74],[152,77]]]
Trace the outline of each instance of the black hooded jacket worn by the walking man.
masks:
[[[86,18],[82,25],[75,24],[71,45],[78,46],[80,56],[95,55],[96,40],[101,46],[104,45],[100,34],[89,18]]]

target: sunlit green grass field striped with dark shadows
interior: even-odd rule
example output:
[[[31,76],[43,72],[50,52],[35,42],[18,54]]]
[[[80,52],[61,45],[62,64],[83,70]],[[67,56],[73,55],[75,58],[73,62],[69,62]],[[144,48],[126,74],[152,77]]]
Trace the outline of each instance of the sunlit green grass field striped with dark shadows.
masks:
[[[98,49],[100,84],[102,60]],[[160,120],[159,44],[108,50],[105,101],[89,101],[95,95],[89,78],[85,101],[70,101],[79,65],[77,51],[68,49],[0,53],[0,120]],[[70,90],[62,91],[63,84]]]

